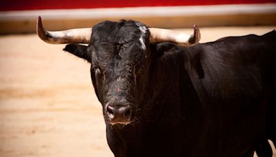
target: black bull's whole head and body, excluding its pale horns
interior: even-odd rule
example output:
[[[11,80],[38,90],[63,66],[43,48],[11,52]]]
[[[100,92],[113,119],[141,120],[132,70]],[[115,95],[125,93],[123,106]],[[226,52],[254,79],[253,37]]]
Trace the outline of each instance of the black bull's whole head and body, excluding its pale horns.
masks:
[[[115,156],[271,156],[275,30],[181,47],[139,25],[105,21],[64,49],[91,63]]]

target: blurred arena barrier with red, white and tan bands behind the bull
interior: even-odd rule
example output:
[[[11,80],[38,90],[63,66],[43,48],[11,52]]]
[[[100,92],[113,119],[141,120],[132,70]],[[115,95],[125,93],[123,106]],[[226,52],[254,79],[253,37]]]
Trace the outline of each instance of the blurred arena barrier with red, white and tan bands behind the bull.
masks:
[[[92,27],[105,20],[134,19],[151,27],[275,25],[276,0],[2,0],[0,33],[34,32],[43,17],[50,30]],[[54,24],[55,23],[55,24]]]

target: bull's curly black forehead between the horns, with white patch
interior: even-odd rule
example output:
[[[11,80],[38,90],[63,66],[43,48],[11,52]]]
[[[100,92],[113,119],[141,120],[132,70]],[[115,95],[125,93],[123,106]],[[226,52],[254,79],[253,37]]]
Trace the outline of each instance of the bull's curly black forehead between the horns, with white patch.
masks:
[[[136,64],[144,59],[148,28],[136,21],[105,21],[92,34],[93,60],[100,63]]]

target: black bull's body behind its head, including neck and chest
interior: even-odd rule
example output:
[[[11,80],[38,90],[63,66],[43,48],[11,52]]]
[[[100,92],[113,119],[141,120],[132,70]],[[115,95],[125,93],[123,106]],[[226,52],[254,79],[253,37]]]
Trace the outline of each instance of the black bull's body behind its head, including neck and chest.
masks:
[[[150,67],[139,123],[107,125],[115,156],[252,155],[276,134],[275,42],[270,32],[188,48],[152,45],[164,54]]]

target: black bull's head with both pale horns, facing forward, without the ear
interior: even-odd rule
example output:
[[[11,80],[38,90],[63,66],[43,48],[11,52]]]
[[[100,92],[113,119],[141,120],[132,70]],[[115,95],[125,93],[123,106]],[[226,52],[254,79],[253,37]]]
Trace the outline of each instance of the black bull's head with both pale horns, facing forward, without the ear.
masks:
[[[47,43],[70,43],[67,52],[91,63],[91,79],[103,106],[106,123],[132,123],[148,87],[152,56],[150,44],[172,42],[194,45],[200,39],[195,25],[192,35],[148,28],[137,21],[104,21],[93,28],[49,32],[37,20],[37,34]],[[86,45],[79,45],[86,43]]]

